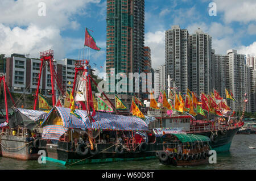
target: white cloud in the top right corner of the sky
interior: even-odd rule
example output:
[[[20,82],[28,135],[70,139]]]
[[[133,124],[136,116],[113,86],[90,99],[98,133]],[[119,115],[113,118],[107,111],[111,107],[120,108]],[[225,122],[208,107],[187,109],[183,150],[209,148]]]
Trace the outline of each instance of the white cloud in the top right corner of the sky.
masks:
[[[218,11],[224,12],[226,23],[241,22],[248,23],[256,20],[256,1],[255,0],[214,0]]]

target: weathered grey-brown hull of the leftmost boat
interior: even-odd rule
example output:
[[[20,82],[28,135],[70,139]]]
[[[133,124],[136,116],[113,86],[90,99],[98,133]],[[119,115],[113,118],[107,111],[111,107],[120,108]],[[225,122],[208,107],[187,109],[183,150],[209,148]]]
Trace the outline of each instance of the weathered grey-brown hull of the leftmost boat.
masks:
[[[33,146],[31,137],[1,135],[2,156],[22,160],[38,159],[38,149]]]

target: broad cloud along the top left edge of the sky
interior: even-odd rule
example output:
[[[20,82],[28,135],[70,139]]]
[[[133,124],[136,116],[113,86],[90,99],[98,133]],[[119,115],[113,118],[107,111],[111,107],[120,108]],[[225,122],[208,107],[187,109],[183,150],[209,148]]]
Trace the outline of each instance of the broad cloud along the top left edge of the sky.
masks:
[[[39,16],[40,2],[46,3],[46,16]],[[71,17],[76,14],[86,15],[88,3],[99,3],[100,0],[1,0],[0,22],[7,26],[29,26],[35,24],[40,28],[53,26],[77,28],[79,24]]]

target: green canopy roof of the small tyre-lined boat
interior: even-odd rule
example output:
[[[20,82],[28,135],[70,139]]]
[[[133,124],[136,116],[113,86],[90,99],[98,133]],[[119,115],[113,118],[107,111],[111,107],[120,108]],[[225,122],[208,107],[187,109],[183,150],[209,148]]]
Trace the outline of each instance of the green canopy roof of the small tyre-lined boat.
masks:
[[[174,137],[177,137],[181,142],[210,141],[209,137],[199,135],[199,134],[172,134],[172,135]]]

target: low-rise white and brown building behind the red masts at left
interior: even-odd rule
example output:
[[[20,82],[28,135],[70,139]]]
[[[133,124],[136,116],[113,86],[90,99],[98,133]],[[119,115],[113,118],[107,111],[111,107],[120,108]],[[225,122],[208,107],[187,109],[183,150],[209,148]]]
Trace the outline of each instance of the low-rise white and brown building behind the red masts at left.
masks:
[[[57,78],[64,90],[73,87],[75,61],[69,58],[53,60]],[[20,94],[35,94],[38,87],[40,65],[40,59],[27,58],[24,54],[13,53],[11,57],[7,57],[6,83],[10,91]],[[51,73],[46,65],[43,66],[39,89],[41,94],[51,96]]]

